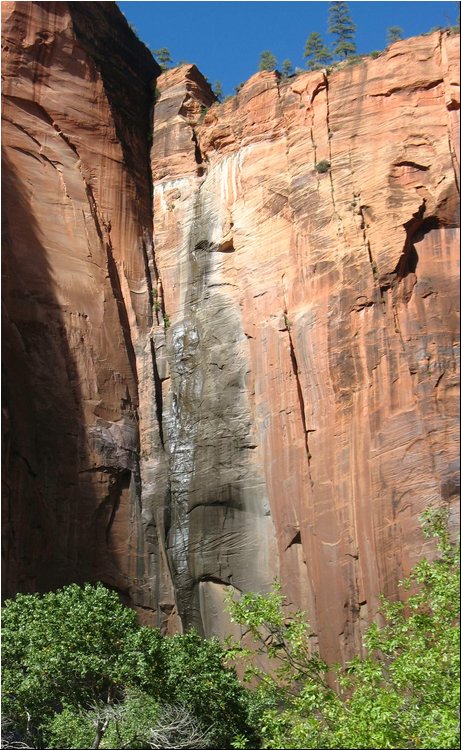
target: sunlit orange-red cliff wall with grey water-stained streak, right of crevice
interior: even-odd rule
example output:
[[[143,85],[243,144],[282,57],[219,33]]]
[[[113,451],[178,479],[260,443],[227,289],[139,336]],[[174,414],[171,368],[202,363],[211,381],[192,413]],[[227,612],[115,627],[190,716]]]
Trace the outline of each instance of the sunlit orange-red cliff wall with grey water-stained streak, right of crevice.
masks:
[[[195,68],[158,81],[167,545],[206,633],[225,584],[279,575],[351,656],[457,493],[458,51],[259,73],[206,114]]]

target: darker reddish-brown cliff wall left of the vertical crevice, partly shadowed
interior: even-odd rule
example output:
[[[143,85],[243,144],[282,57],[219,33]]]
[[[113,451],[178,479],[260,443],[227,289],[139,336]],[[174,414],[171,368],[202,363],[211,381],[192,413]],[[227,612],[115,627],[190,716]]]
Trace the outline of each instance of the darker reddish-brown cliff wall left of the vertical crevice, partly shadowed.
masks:
[[[144,603],[159,70],[113,3],[5,2],[2,20],[3,592],[102,579]]]

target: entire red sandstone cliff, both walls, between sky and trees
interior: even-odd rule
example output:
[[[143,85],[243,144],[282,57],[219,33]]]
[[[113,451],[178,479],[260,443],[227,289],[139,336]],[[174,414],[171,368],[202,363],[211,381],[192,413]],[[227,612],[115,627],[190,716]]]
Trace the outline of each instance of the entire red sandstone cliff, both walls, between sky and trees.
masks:
[[[351,656],[459,487],[459,37],[223,105],[182,66],[151,129],[115,5],[2,12],[5,593],[210,635],[277,575]]]

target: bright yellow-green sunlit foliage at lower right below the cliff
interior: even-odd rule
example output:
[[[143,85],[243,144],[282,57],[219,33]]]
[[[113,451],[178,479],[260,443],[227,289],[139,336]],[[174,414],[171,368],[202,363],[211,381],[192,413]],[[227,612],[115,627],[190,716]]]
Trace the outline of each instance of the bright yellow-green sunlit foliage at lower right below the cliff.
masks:
[[[255,644],[234,642],[229,654],[257,682],[251,716],[262,748],[459,747],[459,544],[450,542],[444,509],[428,511],[423,530],[438,539],[438,558],[422,560],[402,583],[412,591],[405,603],[383,599],[384,624],[369,628],[367,656],[344,669],[318,658],[305,618],[284,611],[279,586],[228,600]],[[269,673],[255,666],[261,656]]]

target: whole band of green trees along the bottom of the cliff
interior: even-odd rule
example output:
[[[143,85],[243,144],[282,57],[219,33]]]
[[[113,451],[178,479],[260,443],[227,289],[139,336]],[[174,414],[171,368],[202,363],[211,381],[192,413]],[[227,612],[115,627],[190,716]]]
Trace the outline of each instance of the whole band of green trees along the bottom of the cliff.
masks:
[[[229,595],[244,635],[226,646],[141,627],[101,585],[18,595],[3,609],[2,746],[459,747],[459,544],[443,509],[423,530],[436,559],[402,583],[404,603],[382,600],[345,667],[311,648],[279,586]]]

